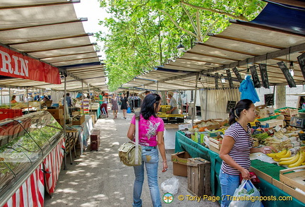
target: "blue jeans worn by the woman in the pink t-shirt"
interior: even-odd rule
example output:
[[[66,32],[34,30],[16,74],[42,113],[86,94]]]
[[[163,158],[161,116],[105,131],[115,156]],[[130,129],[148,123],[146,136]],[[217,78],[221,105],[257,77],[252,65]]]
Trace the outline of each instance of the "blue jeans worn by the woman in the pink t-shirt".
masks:
[[[159,153],[157,148],[142,146],[142,165],[133,166],[136,176],[133,184],[133,206],[142,206],[142,187],[144,182],[144,164],[148,175],[148,187],[150,189],[150,198],[152,199],[152,206],[159,207],[161,204],[161,197],[159,186],[157,182],[157,168],[159,162]]]

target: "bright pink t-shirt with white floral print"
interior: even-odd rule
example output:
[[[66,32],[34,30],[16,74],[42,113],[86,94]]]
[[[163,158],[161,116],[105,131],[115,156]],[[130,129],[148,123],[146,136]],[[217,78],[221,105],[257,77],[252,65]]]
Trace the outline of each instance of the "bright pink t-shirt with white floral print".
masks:
[[[136,116],[133,115],[131,124],[136,125]],[[157,146],[157,132],[165,131],[164,122],[160,117],[151,116],[145,120],[140,114],[139,144],[140,146]]]

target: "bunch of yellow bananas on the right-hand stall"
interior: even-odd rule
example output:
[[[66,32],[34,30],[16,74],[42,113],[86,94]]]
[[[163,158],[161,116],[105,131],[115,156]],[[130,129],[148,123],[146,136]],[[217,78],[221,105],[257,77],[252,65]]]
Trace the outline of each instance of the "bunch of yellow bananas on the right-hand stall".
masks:
[[[288,167],[298,167],[305,165],[305,151],[299,151],[297,155],[291,156],[291,151],[288,149],[282,150],[280,153],[267,154],[273,158],[279,165],[288,165]]]

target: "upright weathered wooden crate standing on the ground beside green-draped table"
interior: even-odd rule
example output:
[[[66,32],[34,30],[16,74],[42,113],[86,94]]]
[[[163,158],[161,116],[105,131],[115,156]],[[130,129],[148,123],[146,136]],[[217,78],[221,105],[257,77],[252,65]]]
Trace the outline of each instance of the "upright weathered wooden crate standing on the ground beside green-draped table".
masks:
[[[186,165],[189,193],[193,196],[210,196],[210,162],[203,158],[189,158]]]

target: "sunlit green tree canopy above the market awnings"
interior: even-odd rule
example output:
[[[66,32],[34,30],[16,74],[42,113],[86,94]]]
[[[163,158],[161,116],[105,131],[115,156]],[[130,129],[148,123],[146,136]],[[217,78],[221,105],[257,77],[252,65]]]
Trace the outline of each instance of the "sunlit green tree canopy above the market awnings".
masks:
[[[100,21],[108,32],[97,32],[104,42],[110,91],[141,73],[179,57],[186,48],[204,42],[208,33],[222,32],[229,19],[252,20],[265,6],[260,0],[100,0],[111,13]],[[181,36],[184,37],[181,38]]]

